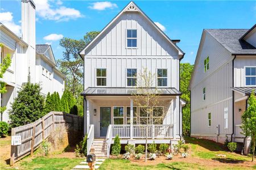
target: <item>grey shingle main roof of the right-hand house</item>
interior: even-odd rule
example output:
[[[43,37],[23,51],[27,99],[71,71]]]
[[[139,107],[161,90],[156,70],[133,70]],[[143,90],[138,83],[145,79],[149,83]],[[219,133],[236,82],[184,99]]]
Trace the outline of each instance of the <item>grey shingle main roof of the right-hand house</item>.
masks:
[[[249,29],[205,29],[232,54],[256,54],[256,48],[240,38]]]

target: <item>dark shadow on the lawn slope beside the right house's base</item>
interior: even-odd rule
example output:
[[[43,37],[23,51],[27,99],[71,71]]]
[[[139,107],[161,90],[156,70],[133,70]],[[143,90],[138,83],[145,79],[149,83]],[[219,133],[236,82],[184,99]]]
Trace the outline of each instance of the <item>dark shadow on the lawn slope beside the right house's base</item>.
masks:
[[[185,143],[199,145],[206,148],[209,151],[226,151],[225,147],[217,142],[210,141],[207,139],[197,139],[192,137],[184,137]]]

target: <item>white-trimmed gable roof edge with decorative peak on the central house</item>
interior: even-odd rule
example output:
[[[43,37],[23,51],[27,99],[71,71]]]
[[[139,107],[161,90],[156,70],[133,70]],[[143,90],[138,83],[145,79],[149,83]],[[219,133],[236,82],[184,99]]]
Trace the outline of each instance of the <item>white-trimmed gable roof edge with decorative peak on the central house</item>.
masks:
[[[144,18],[146,18],[148,20],[148,22],[150,22],[155,28],[156,30],[168,41],[170,42],[170,44],[172,46],[174,46],[175,49],[177,49],[179,51],[179,55],[181,56],[180,58],[182,59],[184,57],[184,52],[175,44],[174,41],[172,41],[150,18],[148,18],[148,16],[133,2],[131,1],[125,8],[123,8],[123,10],[121,12],[119,12],[117,14],[117,16],[115,16],[114,19],[112,19],[110,21],[110,23],[108,25],[106,25],[105,28],[102,29],[102,31],[88,44],[85,46],[84,49],[81,50],[80,52],[80,56],[84,57],[84,52],[86,49],[88,49],[114,22],[115,20],[117,20],[119,18],[119,16],[121,16],[123,14],[123,12],[126,11],[130,11],[130,12],[139,12],[140,14],[142,14],[144,16]]]

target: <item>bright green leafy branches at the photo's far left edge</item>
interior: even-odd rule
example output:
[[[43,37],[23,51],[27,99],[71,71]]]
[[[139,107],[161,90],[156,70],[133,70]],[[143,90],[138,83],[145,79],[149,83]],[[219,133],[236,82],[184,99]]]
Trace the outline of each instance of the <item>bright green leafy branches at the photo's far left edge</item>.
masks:
[[[0,43],[0,49],[3,49],[3,44]],[[1,51],[3,53],[3,50]],[[5,74],[8,67],[11,65],[11,57],[10,54],[7,54],[6,57],[3,58],[2,63],[0,64],[0,78],[3,78],[3,74]],[[6,83],[0,81],[0,94],[5,94],[7,92],[6,90]],[[0,106],[0,113],[1,113],[1,120],[2,120],[2,114],[5,112],[6,107]]]

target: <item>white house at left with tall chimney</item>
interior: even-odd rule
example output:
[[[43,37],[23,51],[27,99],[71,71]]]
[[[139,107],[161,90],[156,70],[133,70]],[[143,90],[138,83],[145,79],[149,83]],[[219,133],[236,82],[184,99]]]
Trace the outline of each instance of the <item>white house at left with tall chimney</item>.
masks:
[[[31,82],[42,85],[43,95],[57,91],[61,96],[64,90],[65,76],[56,69],[51,47],[35,44],[34,2],[30,0],[22,1],[21,23],[22,38],[0,23],[0,43],[3,44],[0,49],[1,62],[6,54],[11,56],[11,66],[7,69],[3,78],[0,79],[7,83],[7,93],[1,95],[1,106],[6,106],[7,109],[3,112],[0,121],[9,121],[8,110],[18,95],[22,84],[27,82],[28,69],[30,70]],[[44,52],[41,46],[46,46]],[[48,74],[42,73],[42,67],[48,71]]]

